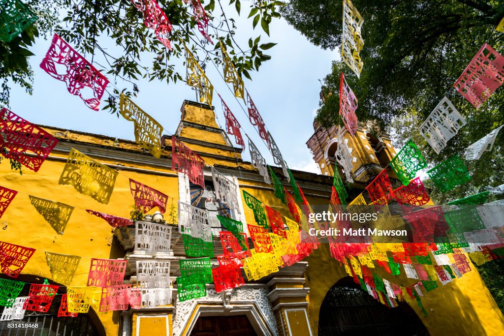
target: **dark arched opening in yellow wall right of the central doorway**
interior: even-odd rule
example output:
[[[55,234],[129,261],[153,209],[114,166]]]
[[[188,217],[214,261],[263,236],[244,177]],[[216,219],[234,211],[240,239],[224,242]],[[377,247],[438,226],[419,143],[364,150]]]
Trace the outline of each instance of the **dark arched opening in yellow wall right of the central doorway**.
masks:
[[[398,304],[396,308],[388,308],[364,292],[352,278],[343,278],[328,291],[322,302],[319,336],[428,336],[415,311],[406,302]]]

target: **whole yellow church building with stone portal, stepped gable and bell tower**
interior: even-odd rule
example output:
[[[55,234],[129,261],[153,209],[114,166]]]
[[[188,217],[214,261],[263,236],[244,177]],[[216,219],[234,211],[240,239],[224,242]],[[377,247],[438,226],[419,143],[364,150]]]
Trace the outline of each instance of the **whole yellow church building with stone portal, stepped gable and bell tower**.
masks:
[[[171,170],[171,137],[162,138],[160,159],[152,157],[141,146],[131,141],[93,135],[84,132],[42,126],[58,138],[59,144],[37,173],[23,170],[20,175],[10,170],[7,163],[0,165],[0,185],[18,194],[8,211],[0,219],[0,241],[36,249],[25,266],[19,281],[43,283],[51,279],[44,252],[63,253],[81,257],[76,275],[69,286],[86,286],[91,258],[127,260],[124,283],[135,284],[139,261],[169,262],[169,304],[153,308],[100,313],[90,309],[79,317],[57,317],[55,313],[26,314],[24,321],[40,323],[36,334],[96,334],[107,336],[153,335],[282,335],[314,336],[360,334],[371,325],[378,334],[430,335],[500,335],[504,334],[504,316],[496,306],[482,279],[471,264],[472,271],[456,281],[427,293],[422,304],[425,316],[417,302],[405,295],[405,302],[397,308],[387,308],[368,297],[348,281],[345,268],[331,257],[328,244],[322,243],[310,256],[258,281],[246,281],[243,286],[217,293],[207,285],[207,295],[180,302],[177,298],[176,277],[180,276],[178,261],[187,256],[177,225],[177,202],[191,202],[210,197],[212,174],[210,167],[231,178],[239,186],[239,219],[254,223],[254,215],[245,205],[242,190],[257,197],[264,205],[289,217],[289,211],[275,197],[271,185],[266,184],[258,170],[241,159],[241,148],[236,148],[225,131],[216,123],[212,108],[190,101],[181,107],[181,119],[175,136],[205,160],[205,190],[196,190],[184,174]],[[334,174],[335,133],[317,128],[308,141],[323,174],[293,171],[310,204],[328,204]],[[334,130],[333,130],[334,131]],[[376,175],[395,151],[390,140],[375,139],[359,128],[352,143],[352,173],[356,188],[350,190],[350,199],[360,193],[359,187]],[[77,192],[71,185],[58,184],[71,149],[90,156],[118,172],[108,204]],[[383,150],[377,151],[377,148]],[[376,154],[378,153],[378,154]],[[282,170],[273,167],[280,178]],[[112,229],[102,219],[91,216],[87,209],[129,218],[134,199],[130,179],[139,181],[168,195],[163,225],[169,232],[169,243],[163,251],[149,251],[139,247],[136,237],[143,223]],[[285,178],[281,182],[287,189]],[[200,192],[201,194],[198,194]],[[57,234],[30,204],[29,195],[47,198],[75,207],[64,234]],[[211,198],[211,197],[210,197]],[[153,214],[151,211],[149,214]],[[214,232],[215,231],[215,232]],[[215,255],[222,253],[219,228],[213,228]],[[219,250],[220,249],[220,250]],[[212,259],[216,266],[216,259]],[[385,279],[384,270],[373,270]],[[2,279],[8,279],[0,275]],[[411,279],[403,274],[394,278],[400,286],[409,286]],[[59,284],[61,285],[61,284]],[[28,285],[25,285],[25,292]],[[61,287],[65,292],[65,286]],[[61,292],[61,290],[60,290]],[[22,294],[23,294],[22,293]],[[365,295],[363,295],[365,294]],[[58,295],[59,296],[59,295]],[[54,305],[58,302],[54,301]],[[57,308],[57,307],[56,307]],[[57,311],[57,309],[56,309]],[[356,316],[359,316],[358,318]],[[379,318],[376,318],[376,317]],[[72,320],[74,319],[74,320]],[[334,321],[339,321],[334,323]],[[4,323],[4,322],[3,322]],[[77,330],[77,331],[76,331]],[[353,333],[351,331],[353,330]],[[395,330],[395,333],[387,333]],[[411,332],[411,333],[408,333]],[[416,333],[413,333],[416,332]],[[7,333],[9,334],[9,333]],[[16,334],[16,333],[11,333]],[[35,334],[35,333],[33,333]]]

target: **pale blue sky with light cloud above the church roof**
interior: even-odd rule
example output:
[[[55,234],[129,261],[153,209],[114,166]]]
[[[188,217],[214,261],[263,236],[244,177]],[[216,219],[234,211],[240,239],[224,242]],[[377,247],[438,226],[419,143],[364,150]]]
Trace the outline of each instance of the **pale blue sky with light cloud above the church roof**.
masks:
[[[259,72],[251,73],[253,81],[243,79],[245,88],[258,107],[289,167],[320,173],[305,143],[313,133],[312,122],[318,108],[321,86],[318,80],[323,79],[330,72],[331,61],[339,57],[338,52],[322,50],[311,45],[283,19],[275,19],[271,23],[271,37],[268,37],[259,25],[254,31],[251,20],[246,20],[248,11],[248,8],[243,8],[241,17],[237,17],[234,9],[226,10],[228,18],[236,19],[235,39],[238,44],[246,47],[248,38],[259,34],[262,35],[261,43],[276,42],[278,44],[266,51],[272,59],[263,63]],[[214,15],[218,14],[220,14],[219,10],[216,9]],[[134,140],[132,122],[118,119],[106,111],[95,112],[89,109],[78,96],[68,93],[65,83],[51,78],[40,69],[39,64],[50,45],[50,37],[48,36],[47,40],[42,38],[37,40],[31,48],[35,54],[30,59],[34,70],[33,95],[30,96],[24,89],[14,85],[11,91],[11,110],[38,124]],[[110,42],[102,43],[102,45],[106,46],[106,43]],[[151,55],[146,56],[148,58],[145,63],[148,63]],[[87,58],[90,59],[90,57]],[[95,56],[95,60],[99,60],[99,56]],[[177,61],[175,64],[176,70],[184,77],[185,68],[182,61]],[[221,94],[245,132],[263,153],[266,161],[273,164],[266,145],[226,88],[215,66],[207,63],[206,71],[215,88],[213,105],[216,107],[221,127],[225,128],[225,120],[217,93]],[[219,68],[219,71],[222,72],[222,69]],[[113,78],[110,76],[108,78],[114,82]],[[184,82],[167,85],[166,82],[148,82],[147,79],[141,79],[137,84],[140,94],[134,101],[161,123],[169,133],[173,133],[178,125],[183,100],[196,99],[195,92]],[[132,89],[132,84],[123,84],[119,79],[116,86]],[[103,98],[107,97],[105,93]],[[104,104],[103,100],[102,104]],[[243,158],[249,160],[248,148],[244,152]]]

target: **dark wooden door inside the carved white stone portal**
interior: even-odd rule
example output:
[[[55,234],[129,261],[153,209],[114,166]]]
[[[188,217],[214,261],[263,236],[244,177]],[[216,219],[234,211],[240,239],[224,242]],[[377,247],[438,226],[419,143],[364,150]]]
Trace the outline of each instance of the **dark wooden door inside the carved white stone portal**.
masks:
[[[257,336],[245,315],[200,316],[191,336]]]

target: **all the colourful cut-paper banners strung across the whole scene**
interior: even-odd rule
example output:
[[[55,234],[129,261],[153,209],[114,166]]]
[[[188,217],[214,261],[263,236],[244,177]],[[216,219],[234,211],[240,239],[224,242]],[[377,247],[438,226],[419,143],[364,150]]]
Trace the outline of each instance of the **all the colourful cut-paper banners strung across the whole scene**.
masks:
[[[191,0],[189,3],[200,32],[211,42],[207,31],[208,16],[201,3],[198,0]],[[170,49],[167,35],[172,28],[159,5],[153,0],[141,3],[133,1],[133,5],[144,14],[145,25],[153,29],[157,38]],[[4,29],[0,29],[0,39],[10,41],[32,24],[36,17],[17,0],[6,2],[6,8],[11,13],[12,20],[6,22]],[[360,34],[362,22],[362,17],[355,7],[349,0],[345,0],[342,56],[345,63],[358,77],[363,66],[359,56],[363,47]],[[255,225],[247,224],[245,229],[245,226],[237,221],[239,215],[237,185],[212,168],[215,189],[218,190],[219,197],[225,199],[227,216],[213,217],[207,210],[179,202],[178,225],[185,254],[195,257],[179,261],[181,276],[175,280],[179,301],[205,296],[206,285],[212,282],[218,292],[243,285],[241,268],[247,280],[259,280],[277,272],[281,267],[302,260],[320,244],[315,237],[308,234],[308,231],[330,225],[311,223],[307,220],[312,217],[312,209],[302,189],[286,166],[270,132],[266,129],[257,106],[244,90],[243,82],[222,43],[220,47],[224,61],[225,81],[233,85],[235,96],[244,100],[249,121],[256,126],[259,136],[272,152],[275,164],[282,166],[283,173],[292,186],[295,200],[282,188],[278,177],[271,167],[269,169],[266,167],[266,160],[248,139],[253,164],[266,183],[273,182],[275,196],[287,204],[294,220],[263,205],[258,198],[243,190],[245,204],[254,214],[255,220]],[[213,86],[191,50],[185,46],[184,48],[187,60],[186,82],[196,88],[202,103],[211,105]],[[455,89],[479,109],[481,104],[502,84],[501,76],[499,76],[499,72],[503,71],[502,64],[504,64],[502,56],[491,46],[483,45],[455,83]],[[59,65],[63,65],[66,72],[59,73],[58,70],[64,69]],[[50,76],[65,82],[68,91],[81,97],[88,107],[93,110],[99,109],[100,100],[109,81],[57,34],[53,36],[51,46],[40,66]],[[340,84],[340,114],[346,129],[353,137],[358,121],[355,114],[357,98],[347,85],[343,74]],[[91,90],[83,90],[84,88]],[[226,116],[226,129],[230,135],[235,136],[236,143],[244,147],[237,119],[222,98],[221,101]],[[136,142],[154,157],[159,158],[162,126],[123,95],[121,95],[120,111],[125,119],[134,122]],[[420,126],[420,133],[433,150],[439,153],[465,123],[465,119],[445,97]],[[1,145],[6,149],[3,155],[19,161],[23,166],[34,171],[40,169],[44,160],[57,145],[57,139],[46,131],[6,108],[3,108],[1,112],[0,127],[6,135],[5,139],[0,139]],[[466,159],[478,160],[484,151],[491,150],[501,127],[494,128],[487,136],[469,146],[465,153]],[[339,128],[339,138],[343,139],[341,128]],[[345,167],[346,179],[351,181],[348,147],[343,142],[341,143],[341,155],[338,155],[341,162],[338,163]],[[172,137],[171,144],[172,169],[185,173],[191,182],[204,187],[203,159],[175,137]],[[415,177],[425,167],[425,160],[417,146],[410,140],[390,164],[390,168],[403,185],[392,190],[387,169],[384,169],[366,187],[371,205],[381,214],[377,222],[385,219],[408,222],[414,228],[413,242],[344,242],[338,236],[329,236],[328,239],[332,256],[339,260],[354,281],[376,300],[394,307],[397,305],[396,300],[403,299],[405,290],[406,294],[412,300],[416,300],[427,314],[420,297],[424,295],[424,292],[437,288],[437,280],[444,286],[469,272],[471,267],[466,253],[469,253],[476,264],[504,255],[504,226],[501,225],[504,216],[502,216],[501,204],[485,203],[488,192],[452,201],[447,207],[437,206],[415,209],[416,211],[413,212],[407,211],[408,206],[425,205],[430,200],[422,181]],[[442,192],[450,191],[470,180],[467,169],[458,155],[430,169],[427,174]],[[348,198],[341,177],[336,175],[338,174],[335,174],[331,195],[333,207],[345,204]],[[117,172],[113,169],[72,149],[59,183],[71,185],[99,203],[108,204],[116,176]],[[162,213],[165,212],[167,195],[133,179],[130,179],[130,188],[136,206],[144,213],[154,207],[158,207]],[[2,196],[0,216],[5,213],[16,194],[15,190],[0,187]],[[388,203],[391,200],[403,206],[403,216],[395,217],[390,214]],[[32,195],[30,195],[30,201],[58,234],[64,233],[74,207]],[[301,202],[302,206],[299,207],[295,201]],[[347,211],[359,205],[366,205],[362,194],[348,204]],[[473,207],[464,208],[462,205]],[[92,210],[87,211],[104,219],[112,227],[136,225],[136,229],[139,228],[138,223],[129,219]],[[214,245],[211,223],[216,221],[226,231],[219,232],[223,254],[215,256],[219,265],[212,269],[210,258],[214,257]],[[342,221],[336,225],[339,228],[350,228],[352,223]],[[169,242],[167,235],[171,230],[161,231],[165,235],[165,241]],[[152,232],[160,232],[159,226],[152,224],[150,227],[143,227],[142,234],[138,237],[143,237],[143,244],[148,245],[151,251],[165,249],[166,244],[149,242],[148,237],[153,239],[152,237],[155,236]],[[248,238],[251,239],[253,248],[248,246]],[[140,241],[138,244],[141,244]],[[2,273],[17,278],[34,253],[35,249],[30,247],[0,242]],[[65,285],[72,283],[81,257],[46,252],[46,260],[53,280]],[[124,310],[129,306],[137,309],[154,307],[171,302],[174,284],[169,277],[170,261],[137,261],[136,286],[123,284],[126,263],[127,261],[122,259],[92,258],[86,286],[67,287],[67,294],[60,296],[58,316],[76,316],[78,313],[87,312],[90,307],[96,311],[105,312]],[[372,272],[371,269],[376,268],[375,263],[383,267],[387,273],[396,276],[401,273],[402,264],[407,278],[419,281],[406,288],[395,285]],[[59,289],[59,286],[50,285],[48,282],[30,284],[28,296],[18,297],[24,285],[25,283],[16,280],[0,279],[0,305],[9,308],[4,309],[2,320],[24,316],[26,310],[47,312]]]

